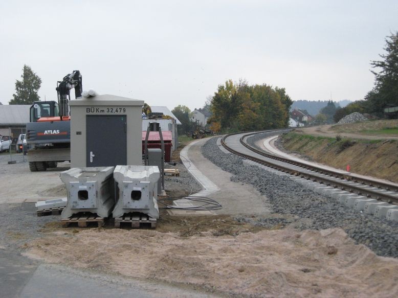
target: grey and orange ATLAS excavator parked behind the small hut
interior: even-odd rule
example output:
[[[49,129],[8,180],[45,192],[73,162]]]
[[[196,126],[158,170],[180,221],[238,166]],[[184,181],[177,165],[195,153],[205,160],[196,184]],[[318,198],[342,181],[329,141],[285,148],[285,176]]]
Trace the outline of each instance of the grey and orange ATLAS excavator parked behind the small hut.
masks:
[[[30,122],[26,125],[27,159],[32,172],[56,168],[57,163],[71,160],[71,117],[68,102],[71,90],[81,97],[82,77],[79,71],[57,82],[55,101],[36,101],[30,107]]]

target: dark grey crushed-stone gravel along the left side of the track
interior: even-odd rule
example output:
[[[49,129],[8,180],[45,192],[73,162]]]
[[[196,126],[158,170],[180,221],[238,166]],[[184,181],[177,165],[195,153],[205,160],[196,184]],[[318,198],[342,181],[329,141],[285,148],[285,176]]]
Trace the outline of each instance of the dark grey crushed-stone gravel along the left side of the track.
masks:
[[[268,134],[250,137],[248,142],[254,144]],[[269,198],[273,213],[280,215],[275,218],[241,216],[238,220],[261,226],[293,224],[300,230],[340,227],[356,243],[366,245],[375,254],[398,257],[398,222],[347,209],[336,199],[304,189],[288,177],[277,176],[256,166],[244,166],[241,157],[222,152],[216,139],[213,137],[202,147],[202,154],[232,173],[232,181],[255,186]]]

